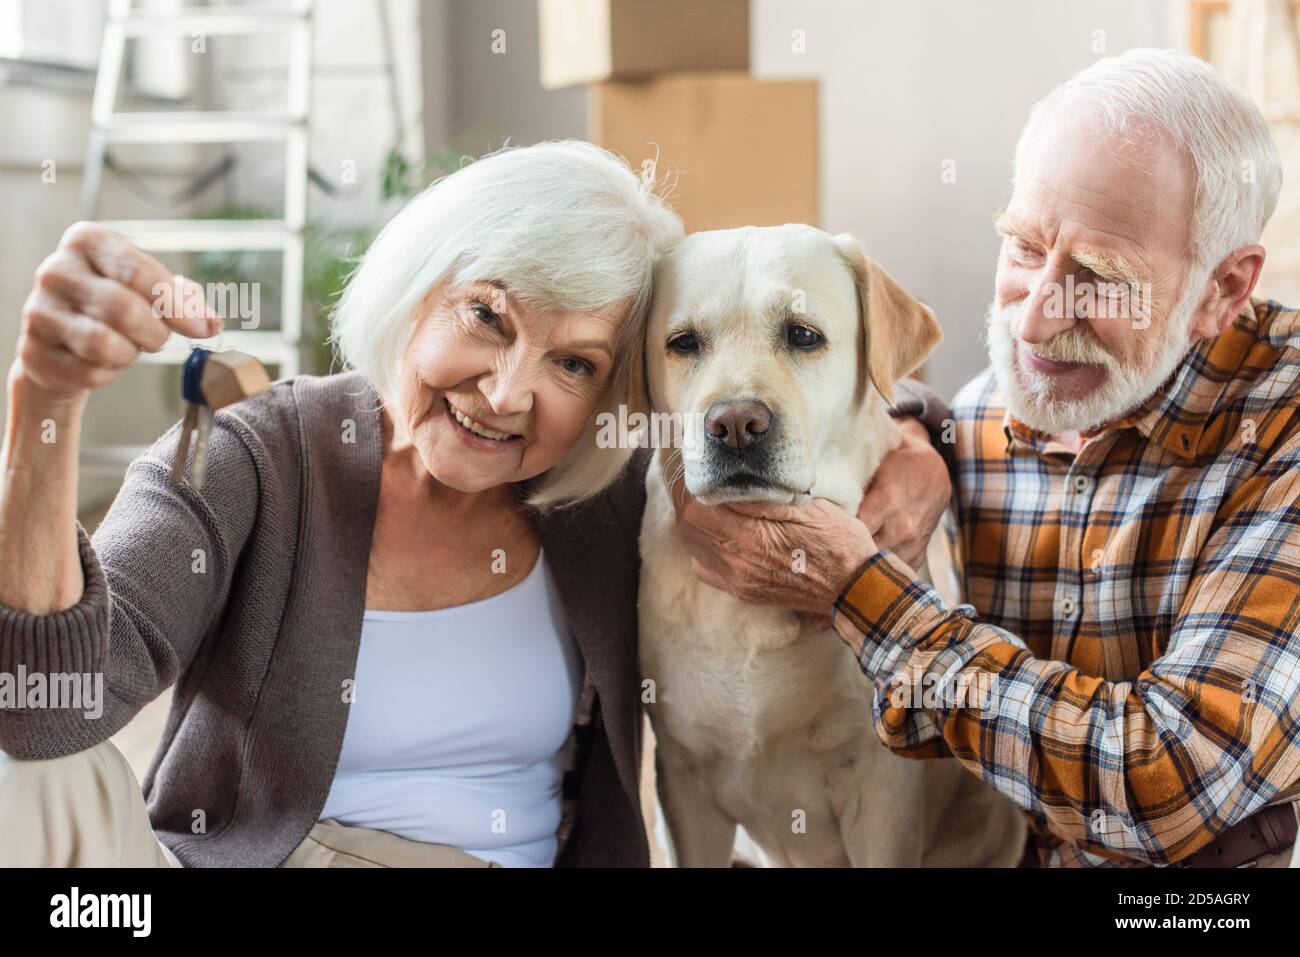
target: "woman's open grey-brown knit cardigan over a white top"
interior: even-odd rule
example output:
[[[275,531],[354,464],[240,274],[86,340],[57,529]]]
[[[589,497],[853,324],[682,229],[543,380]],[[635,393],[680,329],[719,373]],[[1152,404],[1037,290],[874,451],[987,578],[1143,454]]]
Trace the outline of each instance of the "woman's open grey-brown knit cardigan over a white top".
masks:
[[[202,494],[168,484],[177,429],[131,464],[94,545],[78,525],[81,601],[49,615],[0,606],[0,672],[103,671],[103,716],[0,710],[0,750],[84,750],[177,683],[143,781],[153,830],[187,866],[277,866],[317,820],[343,744],[378,502],[378,397],[356,373],[299,376],[222,410]],[[649,865],[636,637],[646,462],[638,454],[599,498],[540,520],[589,679],[560,866]]]

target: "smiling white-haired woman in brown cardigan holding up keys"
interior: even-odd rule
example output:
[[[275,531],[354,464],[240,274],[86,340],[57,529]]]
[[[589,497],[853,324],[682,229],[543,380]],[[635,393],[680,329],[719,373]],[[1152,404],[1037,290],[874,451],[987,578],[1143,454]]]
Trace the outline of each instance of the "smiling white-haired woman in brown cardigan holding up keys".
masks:
[[[350,282],[350,371],[220,411],[202,490],[169,484],[173,426],[92,542],[88,393],[216,321],[160,315],[160,263],[69,230],[9,373],[0,674],[103,675],[103,700],[0,709],[0,865],[646,865],[645,456],[595,432],[640,402],[680,234],[586,143],[458,170]],[[142,796],[108,739],[173,683]]]

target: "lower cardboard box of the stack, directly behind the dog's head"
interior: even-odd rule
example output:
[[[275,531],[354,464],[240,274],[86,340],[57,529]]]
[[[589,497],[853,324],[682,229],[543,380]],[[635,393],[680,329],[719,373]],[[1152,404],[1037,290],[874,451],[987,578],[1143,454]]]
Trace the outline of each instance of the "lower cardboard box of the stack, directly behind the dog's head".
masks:
[[[588,138],[671,183],[689,231],[820,225],[818,85],[690,73],[592,87]]]

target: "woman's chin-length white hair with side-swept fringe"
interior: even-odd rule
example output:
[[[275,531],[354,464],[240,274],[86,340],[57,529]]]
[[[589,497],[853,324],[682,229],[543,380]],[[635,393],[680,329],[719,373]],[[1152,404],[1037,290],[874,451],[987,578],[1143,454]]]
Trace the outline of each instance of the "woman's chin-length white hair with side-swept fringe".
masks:
[[[610,485],[632,449],[601,449],[597,417],[644,410],[642,339],[655,259],[681,218],[623,159],[592,143],[508,147],[432,183],[384,228],[332,317],[343,363],[385,403],[415,333],[408,321],[443,280],[503,282],[528,303],[573,312],[627,304],[610,389],[568,456],[529,486],[529,503],[573,505]],[[621,442],[619,445],[627,445]]]

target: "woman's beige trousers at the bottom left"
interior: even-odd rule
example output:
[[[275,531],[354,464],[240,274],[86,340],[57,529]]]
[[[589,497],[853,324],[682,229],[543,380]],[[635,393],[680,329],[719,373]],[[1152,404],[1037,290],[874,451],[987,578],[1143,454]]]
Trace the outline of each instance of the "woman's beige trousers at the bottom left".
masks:
[[[110,741],[49,761],[0,752],[0,867],[179,867]],[[458,848],[326,818],[282,867],[499,867]]]

